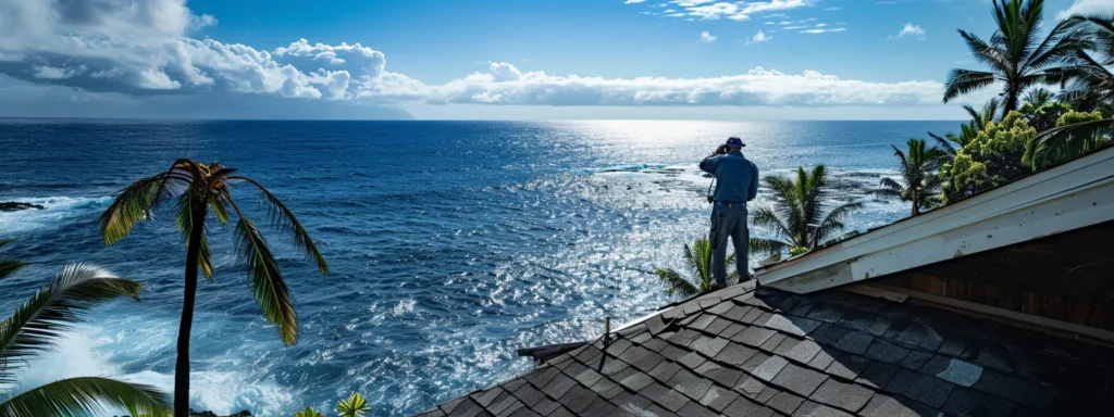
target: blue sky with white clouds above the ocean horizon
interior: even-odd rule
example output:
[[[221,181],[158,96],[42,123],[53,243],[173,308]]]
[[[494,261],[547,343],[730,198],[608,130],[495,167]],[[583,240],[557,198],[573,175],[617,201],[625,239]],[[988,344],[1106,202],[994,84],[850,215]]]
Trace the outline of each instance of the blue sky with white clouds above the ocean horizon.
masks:
[[[1046,0],[1045,19],[1114,11]],[[0,117],[961,119],[989,0],[0,0]]]

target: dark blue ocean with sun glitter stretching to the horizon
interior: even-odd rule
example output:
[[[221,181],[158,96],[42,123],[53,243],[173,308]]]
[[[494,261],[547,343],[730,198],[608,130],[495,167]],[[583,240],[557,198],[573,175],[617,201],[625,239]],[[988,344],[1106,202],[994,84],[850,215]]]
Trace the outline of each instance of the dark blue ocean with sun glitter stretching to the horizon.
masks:
[[[165,210],[111,247],[96,220],[113,192],[176,158],[218,160],[283,199],[332,274],[270,235],[300,315],[299,344],[285,348],[251,298],[229,229],[211,225],[216,276],[198,290],[194,408],[285,416],[332,409],[354,390],[377,416],[413,414],[529,369],[517,348],[594,337],[605,316],[622,322],[670,302],[651,271],[680,268],[681,246],[706,234],[695,163],[727,136],[747,139],[764,173],[827,163],[843,200],[869,201],[864,191],[895,170],[890,143],[957,127],[0,119],[0,200],[48,207],[0,214],[0,238],[22,238],[8,255],[39,262],[0,282],[0,308],[66,262],[141,280],[141,304],[96,310],[25,385],[104,375],[169,388],[185,246]],[[907,211],[869,201],[848,224]]]

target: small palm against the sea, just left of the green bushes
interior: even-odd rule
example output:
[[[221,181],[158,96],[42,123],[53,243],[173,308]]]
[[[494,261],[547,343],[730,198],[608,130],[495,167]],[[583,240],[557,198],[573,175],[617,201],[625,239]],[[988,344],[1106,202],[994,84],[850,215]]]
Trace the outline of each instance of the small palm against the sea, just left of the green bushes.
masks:
[[[876,195],[898,198],[912,203],[912,216],[921,209],[939,206],[940,186],[944,178],[937,173],[947,153],[937,148],[926,148],[924,139],[909,139],[907,152],[893,148],[893,156],[901,160],[901,182],[882,178]]]

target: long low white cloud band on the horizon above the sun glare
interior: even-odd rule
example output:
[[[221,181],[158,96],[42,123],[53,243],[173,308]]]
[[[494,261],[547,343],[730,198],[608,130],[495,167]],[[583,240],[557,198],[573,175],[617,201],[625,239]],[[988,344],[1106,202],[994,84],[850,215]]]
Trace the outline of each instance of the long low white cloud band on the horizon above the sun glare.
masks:
[[[937,105],[942,85],[936,81],[868,82],[842,80],[817,71],[786,75],[755,68],[745,75],[717,78],[608,79],[521,72],[502,80],[494,63],[441,86],[432,103],[534,106],[916,106]]]

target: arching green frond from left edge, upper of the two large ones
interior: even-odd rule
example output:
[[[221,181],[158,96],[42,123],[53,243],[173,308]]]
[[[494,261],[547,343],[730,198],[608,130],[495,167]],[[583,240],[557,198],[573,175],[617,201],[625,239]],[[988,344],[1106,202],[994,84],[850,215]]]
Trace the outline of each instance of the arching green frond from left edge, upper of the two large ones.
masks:
[[[10,317],[0,321],[0,383],[27,359],[48,351],[70,325],[84,321],[92,306],[129,296],[139,300],[140,285],[90,265],[69,265]]]

